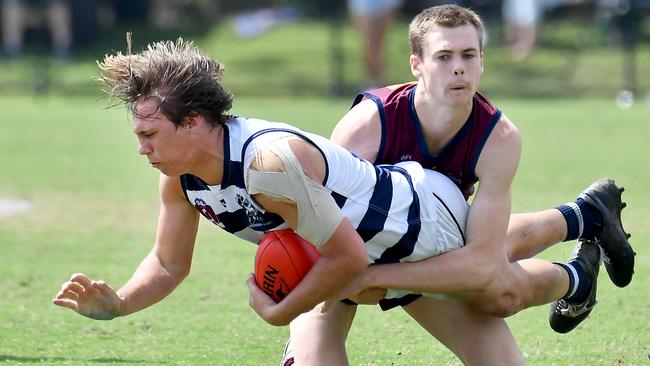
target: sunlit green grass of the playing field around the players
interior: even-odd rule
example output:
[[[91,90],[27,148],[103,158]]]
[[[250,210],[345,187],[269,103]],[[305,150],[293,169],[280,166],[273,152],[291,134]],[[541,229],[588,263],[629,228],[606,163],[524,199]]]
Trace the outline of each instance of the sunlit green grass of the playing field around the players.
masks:
[[[650,351],[650,129],[645,105],[610,101],[495,100],[524,139],[514,211],[574,199],[612,176],[627,187],[626,228],[637,273],[625,289],[601,275],[600,305],[569,335],[547,325],[547,307],[510,318],[531,365],[640,365]],[[123,108],[96,98],[3,97],[0,197],[34,210],[0,220],[0,363],[50,365],[275,365],[288,335],[248,307],[255,247],[202,223],[190,277],[154,307],[110,322],[53,306],[75,272],[115,287],[149,251],[157,174],[137,155]],[[236,99],[240,115],[288,121],[328,134],[349,100]],[[563,261],[571,244],[544,257]],[[604,271],[603,271],[604,272]],[[393,341],[394,339],[396,341]],[[400,310],[359,311],[349,338],[352,365],[458,364]]]

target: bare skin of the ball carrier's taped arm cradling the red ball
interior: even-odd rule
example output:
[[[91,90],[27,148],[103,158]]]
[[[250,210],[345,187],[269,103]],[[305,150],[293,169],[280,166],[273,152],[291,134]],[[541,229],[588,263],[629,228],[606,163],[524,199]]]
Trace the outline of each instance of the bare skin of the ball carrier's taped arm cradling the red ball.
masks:
[[[300,140],[292,141],[291,149],[300,162],[304,174],[312,179],[313,184],[320,184],[325,175],[325,162],[322,155],[310,144]],[[322,186],[321,186],[322,187]],[[277,196],[256,194],[255,200],[269,212],[280,215],[289,226],[298,234],[306,226],[329,226],[332,222],[328,217],[341,217],[340,209],[333,203],[325,207],[316,205],[315,222],[311,215],[301,215],[304,209],[301,204],[293,200],[301,197],[287,197],[278,199]],[[330,196],[331,197],[331,196]],[[319,201],[316,198],[314,201]],[[303,202],[305,203],[305,202]],[[335,212],[339,210],[339,212]],[[312,220],[314,222],[298,222]],[[311,217],[311,218],[309,218]],[[302,228],[302,229],[301,229]],[[368,266],[368,256],[363,240],[356,233],[352,224],[346,219],[336,221],[333,233],[323,238],[321,243],[304,236],[317,245],[320,252],[319,260],[314,264],[300,284],[294,288],[280,303],[275,303],[266,293],[255,285],[254,278],[249,278],[251,307],[268,323],[273,325],[286,325],[303,312],[309,311],[317,304],[338,293],[340,287],[354,280]],[[329,231],[326,231],[329,232]]]

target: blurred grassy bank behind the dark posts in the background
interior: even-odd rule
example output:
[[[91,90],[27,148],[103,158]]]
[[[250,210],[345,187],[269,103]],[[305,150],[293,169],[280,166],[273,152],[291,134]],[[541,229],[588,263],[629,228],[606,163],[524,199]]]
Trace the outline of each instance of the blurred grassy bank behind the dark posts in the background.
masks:
[[[124,32],[134,31],[134,49],[152,41],[184,36],[226,65],[225,80],[238,96],[322,97],[333,87],[330,25],[316,20],[271,29],[259,37],[235,35],[228,18],[201,31],[157,30],[142,25],[119,25],[106,30],[99,42],[77,51],[77,60],[61,63],[41,56],[7,62],[0,59],[0,94],[43,93],[93,95],[94,61],[105,53],[126,48]],[[408,57],[407,22],[394,23],[386,37],[386,82],[412,80]],[[540,46],[532,56],[517,62],[502,44],[498,23],[488,24],[482,89],[493,97],[613,99],[624,86],[624,56],[616,42],[606,42],[605,30],[593,22],[547,22],[540,31]],[[363,81],[361,40],[347,20],[338,25],[344,85],[342,95],[352,95]],[[648,38],[650,27],[644,28]],[[642,38],[643,39],[643,38]],[[640,99],[650,91],[648,42],[640,42],[637,55]]]

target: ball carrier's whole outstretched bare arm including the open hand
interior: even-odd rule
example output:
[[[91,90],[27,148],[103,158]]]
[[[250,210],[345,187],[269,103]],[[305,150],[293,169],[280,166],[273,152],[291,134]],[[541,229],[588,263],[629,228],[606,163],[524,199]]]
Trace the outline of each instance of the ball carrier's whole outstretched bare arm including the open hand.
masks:
[[[177,177],[160,178],[156,242],[132,277],[117,291],[78,273],[64,283],[55,305],[93,319],[112,319],[142,310],[170,294],[189,274],[198,213],[185,199]]]

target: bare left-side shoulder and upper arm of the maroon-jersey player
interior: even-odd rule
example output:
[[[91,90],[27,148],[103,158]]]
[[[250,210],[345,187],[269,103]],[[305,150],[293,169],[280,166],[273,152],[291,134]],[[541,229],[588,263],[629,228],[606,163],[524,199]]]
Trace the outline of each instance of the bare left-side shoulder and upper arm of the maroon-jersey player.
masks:
[[[355,105],[336,124],[330,140],[368,161],[375,161],[381,142],[377,105],[366,99]]]

